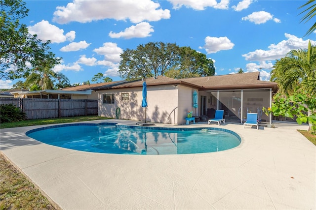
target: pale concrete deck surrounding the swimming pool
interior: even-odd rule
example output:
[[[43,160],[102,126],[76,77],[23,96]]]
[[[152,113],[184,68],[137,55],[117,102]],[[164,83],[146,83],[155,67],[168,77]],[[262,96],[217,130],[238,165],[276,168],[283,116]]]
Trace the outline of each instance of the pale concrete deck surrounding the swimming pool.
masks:
[[[88,123],[103,121],[137,122]],[[221,127],[242,139],[231,150],[182,155],[69,150],[25,135],[42,126],[6,128],[0,151],[63,210],[316,209],[316,146],[297,131],[308,127],[275,125],[177,125]]]

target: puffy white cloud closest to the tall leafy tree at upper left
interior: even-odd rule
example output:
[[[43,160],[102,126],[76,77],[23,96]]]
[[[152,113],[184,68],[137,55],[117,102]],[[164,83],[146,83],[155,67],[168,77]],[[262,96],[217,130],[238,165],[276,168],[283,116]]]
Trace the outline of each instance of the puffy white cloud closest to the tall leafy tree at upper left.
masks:
[[[64,35],[64,30],[57,26],[51,25],[48,21],[42,20],[34,26],[29,26],[28,30],[31,34],[37,34],[38,38],[43,42],[51,40],[51,43],[61,43],[64,41],[73,41],[76,37],[74,30]]]

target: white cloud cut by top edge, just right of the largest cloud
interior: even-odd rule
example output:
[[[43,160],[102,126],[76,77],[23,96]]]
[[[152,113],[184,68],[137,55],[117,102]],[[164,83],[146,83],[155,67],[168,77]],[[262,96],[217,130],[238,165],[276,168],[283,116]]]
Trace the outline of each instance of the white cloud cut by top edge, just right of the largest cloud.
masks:
[[[229,0],[168,0],[173,5],[173,9],[180,9],[182,6],[193,8],[195,10],[204,10],[206,7],[216,9],[228,9]]]

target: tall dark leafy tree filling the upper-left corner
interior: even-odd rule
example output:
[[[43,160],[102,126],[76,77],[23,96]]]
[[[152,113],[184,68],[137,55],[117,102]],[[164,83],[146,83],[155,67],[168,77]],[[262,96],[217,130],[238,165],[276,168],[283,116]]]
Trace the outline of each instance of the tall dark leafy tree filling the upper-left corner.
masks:
[[[27,26],[20,24],[20,19],[28,15],[22,0],[0,0],[0,79],[18,79],[30,74],[41,60],[55,66],[61,58],[49,52],[50,41],[44,43],[31,35]],[[31,64],[32,68],[27,67]]]

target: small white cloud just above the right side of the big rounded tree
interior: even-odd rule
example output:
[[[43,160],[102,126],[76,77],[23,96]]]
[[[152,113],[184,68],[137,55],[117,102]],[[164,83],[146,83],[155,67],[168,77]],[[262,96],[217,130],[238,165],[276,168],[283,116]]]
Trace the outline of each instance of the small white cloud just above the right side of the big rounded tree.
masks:
[[[216,53],[221,50],[233,49],[234,43],[225,37],[210,37],[206,36],[205,45],[203,47],[198,47],[199,49],[205,49],[207,54]]]

